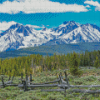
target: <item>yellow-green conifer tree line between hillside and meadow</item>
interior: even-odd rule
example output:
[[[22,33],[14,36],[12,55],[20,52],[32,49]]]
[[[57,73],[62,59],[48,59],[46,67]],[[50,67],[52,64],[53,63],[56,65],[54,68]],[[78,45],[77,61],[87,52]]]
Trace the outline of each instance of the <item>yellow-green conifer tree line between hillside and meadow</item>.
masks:
[[[34,74],[56,69],[71,69],[75,74],[78,66],[100,67],[100,51],[85,53],[68,53],[67,55],[42,56],[30,55],[17,58],[0,59],[0,74],[20,76],[21,73]],[[74,68],[74,69],[73,69]]]

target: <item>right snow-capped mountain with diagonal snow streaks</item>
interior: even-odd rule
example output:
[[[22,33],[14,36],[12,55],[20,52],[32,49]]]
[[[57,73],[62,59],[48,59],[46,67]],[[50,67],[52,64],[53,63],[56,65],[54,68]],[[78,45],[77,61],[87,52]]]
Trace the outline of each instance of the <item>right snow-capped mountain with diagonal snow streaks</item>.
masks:
[[[74,21],[64,22],[59,27],[53,29],[59,33],[56,40],[47,42],[51,44],[68,44],[79,42],[100,42],[100,28],[93,24],[77,24]]]

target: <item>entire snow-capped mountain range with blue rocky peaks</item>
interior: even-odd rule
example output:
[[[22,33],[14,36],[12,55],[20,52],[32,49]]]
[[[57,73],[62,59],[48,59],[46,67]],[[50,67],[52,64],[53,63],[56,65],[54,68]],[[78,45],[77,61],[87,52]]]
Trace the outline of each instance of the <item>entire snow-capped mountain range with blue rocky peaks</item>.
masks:
[[[78,42],[100,42],[100,28],[93,24],[65,21],[57,28],[36,30],[32,26],[16,23],[0,33],[0,51]]]

